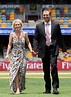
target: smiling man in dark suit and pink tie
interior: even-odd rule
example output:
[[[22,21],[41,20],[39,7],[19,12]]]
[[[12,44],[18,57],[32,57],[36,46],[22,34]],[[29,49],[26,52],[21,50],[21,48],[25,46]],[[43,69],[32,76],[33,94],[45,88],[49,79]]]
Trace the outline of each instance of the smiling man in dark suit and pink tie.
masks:
[[[35,55],[42,59],[45,92],[51,93],[51,79],[50,79],[50,63],[53,94],[59,94],[59,78],[57,70],[57,56],[59,47],[62,48],[64,55],[66,55],[66,48],[62,40],[61,30],[58,23],[51,20],[51,13],[47,9],[43,11],[44,22],[36,25],[35,34],[33,38],[33,49]]]

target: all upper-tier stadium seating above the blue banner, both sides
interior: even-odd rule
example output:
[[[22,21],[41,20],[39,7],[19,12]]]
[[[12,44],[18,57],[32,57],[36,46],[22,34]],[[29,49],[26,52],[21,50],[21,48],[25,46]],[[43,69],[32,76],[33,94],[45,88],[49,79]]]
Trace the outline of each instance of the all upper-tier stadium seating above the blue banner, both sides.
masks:
[[[61,27],[71,27],[71,7],[70,6],[54,6],[48,7],[48,10],[51,11],[52,20],[59,22]],[[0,27],[11,27],[12,21],[14,19],[21,19],[24,23],[23,27],[35,27],[37,23],[43,22],[40,19],[36,21],[28,20],[25,21],[24,18],[25,8],[21,6],[10,7],[10,8],[0,8]]]

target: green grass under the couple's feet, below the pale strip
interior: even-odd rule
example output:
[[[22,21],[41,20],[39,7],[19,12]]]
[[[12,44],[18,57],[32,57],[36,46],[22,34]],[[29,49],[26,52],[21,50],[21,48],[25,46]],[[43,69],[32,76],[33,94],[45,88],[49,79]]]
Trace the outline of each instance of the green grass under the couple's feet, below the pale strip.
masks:
[[[26,89],[19,95],[12,94],[9,79],[0,78],[0,97],[71,97],[71,78],[60,78],[60,94],[43,94],[43,78],[26,78]]]

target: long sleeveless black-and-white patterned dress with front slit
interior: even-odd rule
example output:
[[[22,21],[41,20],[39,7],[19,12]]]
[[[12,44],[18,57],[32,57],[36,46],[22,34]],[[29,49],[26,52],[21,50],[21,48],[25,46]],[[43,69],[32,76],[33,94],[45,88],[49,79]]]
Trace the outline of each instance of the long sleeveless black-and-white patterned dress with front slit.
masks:
[[[10,88],[16,92],[14,79],[18,73],[20,92],[25,89],[25,73],[27,61],[25,59],[25,38],[22,32],[21,39],[13,35],[13,48],[10,54]]]

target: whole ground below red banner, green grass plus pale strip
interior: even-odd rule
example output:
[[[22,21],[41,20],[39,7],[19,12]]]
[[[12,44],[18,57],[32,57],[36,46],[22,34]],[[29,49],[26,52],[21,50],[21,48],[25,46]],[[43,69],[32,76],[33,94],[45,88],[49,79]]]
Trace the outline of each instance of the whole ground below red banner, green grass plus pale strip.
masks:
[[[43,73],[28,72],[26,74],[26,89],[21,94],[14,95],[9,88],[8,72],[0,72],[0,97],[71,97],[71,72],[59,72],[59,81],[60,94],[43,94],[45,90]]]

